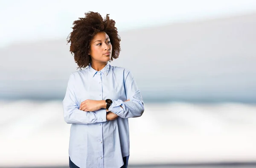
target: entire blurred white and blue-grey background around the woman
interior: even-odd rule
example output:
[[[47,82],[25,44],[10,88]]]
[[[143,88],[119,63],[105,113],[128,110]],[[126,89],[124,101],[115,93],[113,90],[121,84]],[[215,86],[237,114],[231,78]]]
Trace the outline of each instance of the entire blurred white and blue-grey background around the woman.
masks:
[[[255,0],[0,0],[0,167],[68,167],[66,38],[87,11],[121,36],[113,66],[145,101],[130,167],[256,167]]]

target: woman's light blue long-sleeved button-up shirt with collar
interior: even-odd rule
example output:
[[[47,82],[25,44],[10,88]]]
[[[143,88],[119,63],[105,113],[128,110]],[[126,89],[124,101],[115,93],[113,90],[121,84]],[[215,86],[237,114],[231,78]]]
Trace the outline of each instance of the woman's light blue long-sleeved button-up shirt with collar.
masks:
[[[113,101],[109,111],[119,116],[116,120],[106,120],[106,109],[79,110],[87,99],[108,98]],[[80,168],[120,168],[122,157],[129,155],[128,118],[140,117],[144,112],[143,98],[131,72],[110,64],[96,71],[89,64],[70,75],[63,107],[64,120],[72,124],[72,162]]]

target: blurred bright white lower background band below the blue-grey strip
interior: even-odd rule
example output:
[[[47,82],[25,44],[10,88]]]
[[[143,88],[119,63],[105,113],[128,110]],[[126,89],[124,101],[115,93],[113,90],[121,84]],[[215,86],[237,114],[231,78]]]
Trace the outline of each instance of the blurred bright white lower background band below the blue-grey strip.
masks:
[[[0,167],[68,165],[62,113],[61,101],[0,101]],[[145,103],[129,126],[130,165],[256,162],[256,104]]]

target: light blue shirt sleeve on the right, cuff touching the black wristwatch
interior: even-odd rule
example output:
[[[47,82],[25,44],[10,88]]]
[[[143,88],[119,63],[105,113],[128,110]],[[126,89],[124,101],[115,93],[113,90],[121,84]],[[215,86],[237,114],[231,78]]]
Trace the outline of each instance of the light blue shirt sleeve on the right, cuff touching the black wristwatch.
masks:
[[[124,79],[126,98],[127,100],[130,99],[130,101],[112,100],[113,103],[109,107],[109,111],[121,118],[140,117],[144,112],[144,102],[140,89],[136,84],[134,76],[127,69],[124,70]]]

